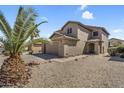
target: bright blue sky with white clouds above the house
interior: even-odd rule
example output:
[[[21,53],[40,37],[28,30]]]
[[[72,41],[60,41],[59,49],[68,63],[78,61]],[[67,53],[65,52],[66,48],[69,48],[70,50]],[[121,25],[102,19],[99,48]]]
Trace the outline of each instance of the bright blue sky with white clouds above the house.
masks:
[[[54,31],[60,29],[67,21],[80,21],[87,25],[105,27],[111,34],[110,38],[124,39],[124,6],[101,5],[40,5],[24,6],[36,9],[39,17],[37,22],[47,19],[48,23],[42,24],[40,36],[48,38]],[[13,26],[19,6],[0,6],[0,10]],[[3,36],[0,32],[0,36]]]

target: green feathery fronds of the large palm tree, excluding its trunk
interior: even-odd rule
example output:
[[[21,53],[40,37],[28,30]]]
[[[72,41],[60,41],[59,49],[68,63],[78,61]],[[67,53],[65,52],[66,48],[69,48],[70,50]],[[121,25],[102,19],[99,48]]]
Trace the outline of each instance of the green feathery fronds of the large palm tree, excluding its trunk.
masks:
[[[17,54],[22,51],[24,43],[31,37],[33,33],[39,32],[38,26],[47,21],[35,24],[37,14],[32,8],[25,9],[20,7],[14,28],[11,29],[8,22],[2,13],[0,13],[0,30],[6,36],[5,39],[0,38],[4,44],[5,49],[12,54]]]

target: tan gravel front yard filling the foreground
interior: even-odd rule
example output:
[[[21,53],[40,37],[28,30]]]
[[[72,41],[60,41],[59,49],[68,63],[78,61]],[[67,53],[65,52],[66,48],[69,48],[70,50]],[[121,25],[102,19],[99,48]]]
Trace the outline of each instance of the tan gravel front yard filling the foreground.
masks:
[[[115,59],[92,55],[77,61],[40,64],[32,67],[32,79],[25,87],[124,87],[124,61]]]

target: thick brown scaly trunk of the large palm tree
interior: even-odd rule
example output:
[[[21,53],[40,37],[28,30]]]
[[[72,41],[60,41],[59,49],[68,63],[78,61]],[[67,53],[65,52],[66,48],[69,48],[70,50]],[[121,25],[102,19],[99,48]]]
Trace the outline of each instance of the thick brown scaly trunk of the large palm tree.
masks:
[[[11,54],[0,69],[0,86],[23,87],[30,78],[29,69],[19,54]]]

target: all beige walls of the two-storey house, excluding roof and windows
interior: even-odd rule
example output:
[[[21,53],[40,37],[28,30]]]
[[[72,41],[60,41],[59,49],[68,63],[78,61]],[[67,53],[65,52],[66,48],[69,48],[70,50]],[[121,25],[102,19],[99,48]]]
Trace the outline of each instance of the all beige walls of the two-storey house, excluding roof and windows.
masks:
[[[68,28],[72,28],[72,33],[67,34]],[[98,31],[98,30],[96,30]],[[61,31],[62,34],[72,36],[78,38],[79,41],[74,40],[58,40],[52,41],[52,43],[46,45],[46,53],[55,54],[60,57],[68,57],[68,56],[76,56],[81,55],[83,53],[88,52],[87,40],[88,39],[100,39],[103,41],[102,43],[102,51],[104,47],[104,53],[107,53],[108,49],[108,36],[102,30],[99,30],[99,36],[93,37],[92,31],[89,31],[75,23],[67,24],[63,30]],[[52,38],[58,37],[57,35],[53,36]],[[95,53],[100,53],[100,43],[95,42]],[[87,50],[87,51],[85,51]]]

